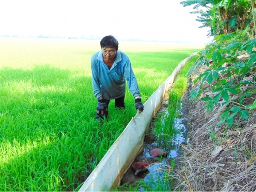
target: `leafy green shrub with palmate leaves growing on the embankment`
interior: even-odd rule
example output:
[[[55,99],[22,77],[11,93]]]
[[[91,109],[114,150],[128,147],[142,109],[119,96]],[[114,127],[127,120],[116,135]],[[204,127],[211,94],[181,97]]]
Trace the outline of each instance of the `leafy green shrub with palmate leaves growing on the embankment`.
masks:
[[[256,108],[256,101],[243,105],[246,97],[255,94],[255,76],[248,80],[251,73],[255,73],[256,67],[256,39],[242,41],[230,41],[235,34],[218,35],[214,41],[199,53],[195,66],[208,67],[201,73],[194,83],[201,83],[191,91],[190,99],[197,99],[202,93],[210,92],[201,99],[205,101],[204,108],[213,110],[214,105],[221,103],[227,105],[226,111],[221,113],[218,125],[224,122],[232,126],[236,115],[247,119],[250,110]],[[239,59],[242,54],[247,54],[244,59]],[[243,87],[252,87],[247,90]],[[239,98],[239,103],[234,99]]]

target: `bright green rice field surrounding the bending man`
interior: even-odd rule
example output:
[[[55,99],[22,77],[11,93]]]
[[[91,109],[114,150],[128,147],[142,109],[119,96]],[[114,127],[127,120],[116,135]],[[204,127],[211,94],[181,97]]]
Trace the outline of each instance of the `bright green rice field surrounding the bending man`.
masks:
[[[128,90],[125,110],[97,100],[90,57],[99,41],[0,38],[0,191],[78,191],[136,115]],[[142,102],[175,67],[204,45],[119,41],[137,77]]]

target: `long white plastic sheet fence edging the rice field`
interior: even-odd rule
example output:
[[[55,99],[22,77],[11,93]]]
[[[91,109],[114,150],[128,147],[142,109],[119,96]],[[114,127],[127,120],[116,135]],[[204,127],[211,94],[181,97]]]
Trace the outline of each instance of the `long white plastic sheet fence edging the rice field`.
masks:
[[[109,191],[118,186],[122,175],[129,169],[134,159],[143,151],[145,132],[151,119],[161,107],[164,94],[171,88],[175,76],[197,52],[184,59],[172,75],[145,102],[144,111],[137,113],[122,134],[113,143],[98,166],[89,175],[79,191]]]

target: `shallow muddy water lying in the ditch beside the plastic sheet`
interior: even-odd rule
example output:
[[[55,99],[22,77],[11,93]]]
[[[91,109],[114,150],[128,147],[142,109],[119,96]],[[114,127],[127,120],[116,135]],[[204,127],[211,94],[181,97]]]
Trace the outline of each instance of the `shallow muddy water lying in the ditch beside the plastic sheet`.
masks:
[[[163,113],[164,115],[162,116],[162,122],[166,121],[166,116],[169,115],[168,108],[168,101],[169,99],[163,99],[162,101],[162,107],[158,111],[157,114]],[[182,106],[181,106],[182,107]],[[173,128],[177,130],[177,134],[170,136],[169,142],[171,142],[171,145],[168,144],[168,146],[171,146],[169,148],[162,148],[162,150],[167,151],[168,154],[166,157],[152,157],[149,153],[150,150],[154,148],[160,148],[158,146],[158,143],[161,143],[161,141],[157,141],[157,136],[154,135],[153,129],[154,129],[154,119],[157,118],[154,117],[151,121],[149,131],[145,135],[145,140],[144,140],[144,151],[141,153],[139,156],[137,156],[134,160],[134,162],[144,162],[144,163],[149,163],[150,166],[147,171],[145,172],[140,172],[138,175],[134,175],[135,170],[131,167],[128,169],[128,172],[123,175],[122,180],[121,180],[121,185],[124,183],[129,183],[129,184],[134,184],[138,180],[144,180],[149,186],[154,187],[157,185],[157,183],[152,183],[154,180],[163,180],[163,177],[165,173],[169,173],[170,165],[172,163],[172,160],[175,160],[176,157],[178,157],[179,152],[180,152],[180,144],[186,142],[186,110],[178,111],[180,114],[178,118],[175,118],[174,124],[172,125]],[[167,145],[166,145],[167,146]],[[175,162],[178,163],[178,162]],[[163,182],[164,183],[164,182]],[[137,186],[136,183],[134,184],[134,187]],[[169,186],[167,186],[169,188]],[[144,191],[143,188],[139,189],[140,191]]]

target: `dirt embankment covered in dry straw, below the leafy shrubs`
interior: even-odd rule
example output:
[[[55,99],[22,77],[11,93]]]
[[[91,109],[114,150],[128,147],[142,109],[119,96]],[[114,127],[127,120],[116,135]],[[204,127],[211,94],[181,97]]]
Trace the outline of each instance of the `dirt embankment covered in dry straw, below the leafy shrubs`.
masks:
[[[255,75],[254,72],[252,76],[255,78]],[[190,83],[183,97],[189,131],[183,153],[178,157],[179,167],[174,175],[177,185],[174,190],[255,191],[256,110],[250,111],[247,120],[236,116],[232,127],[225,124],[217,126],[225,108],[220,102],[207,113],[201,99],[189,102],[189,93],[195,86]],[[247,88],[255,90],[253,87]],[[255,99],[254,93],[252,97],[244,99],[243,104],[247,102],[248,105]]]

